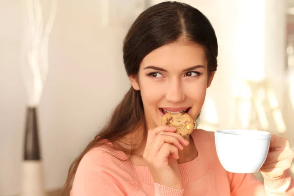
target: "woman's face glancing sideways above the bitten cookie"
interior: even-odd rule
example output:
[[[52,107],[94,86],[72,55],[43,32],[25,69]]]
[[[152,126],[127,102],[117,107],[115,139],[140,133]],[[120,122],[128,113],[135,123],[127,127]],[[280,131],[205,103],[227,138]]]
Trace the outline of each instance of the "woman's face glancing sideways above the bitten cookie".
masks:
[[[196,120],[213,76],[199,46],[172,43],[147,54],[138,75],[130,76],[141,91],[147,128],[159,126],[168,111],[185,111]]]

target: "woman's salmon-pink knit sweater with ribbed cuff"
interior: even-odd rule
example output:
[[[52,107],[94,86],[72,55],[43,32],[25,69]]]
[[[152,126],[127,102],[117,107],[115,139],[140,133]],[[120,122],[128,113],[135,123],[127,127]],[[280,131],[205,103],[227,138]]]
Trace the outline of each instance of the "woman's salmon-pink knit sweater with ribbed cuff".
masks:
[[[226,172],[216,154],[214,133],[195,130],[198,156],[179,164],[183,190],[154,183],[147,167],[134,166],[122,151],[96,147],[81,160],[71,196],[294,196],[290,172],[278,179]],[[114,155],[114,156],[113,156]],[[117,157],[117,158],[116,158]]]

